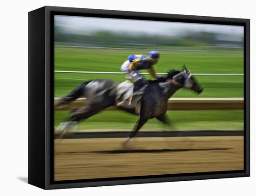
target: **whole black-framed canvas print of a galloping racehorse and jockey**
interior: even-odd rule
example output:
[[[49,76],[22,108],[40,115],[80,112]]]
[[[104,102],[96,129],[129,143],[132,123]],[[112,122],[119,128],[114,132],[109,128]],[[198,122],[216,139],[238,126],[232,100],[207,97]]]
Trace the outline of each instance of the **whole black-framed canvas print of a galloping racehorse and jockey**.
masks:
[[[249,176],[249,19],[28,13],[28,183]]]

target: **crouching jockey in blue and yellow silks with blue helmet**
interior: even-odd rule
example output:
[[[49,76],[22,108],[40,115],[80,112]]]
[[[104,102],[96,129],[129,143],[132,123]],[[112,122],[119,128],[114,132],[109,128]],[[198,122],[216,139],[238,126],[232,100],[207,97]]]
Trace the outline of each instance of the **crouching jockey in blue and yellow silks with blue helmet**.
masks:
[[[152,77],[155,79],[161,78],[162,76],[157,76],[153,65],[158,62],[160,55],[158,51],[151,51],[149,55],[130,55],[128,60],[125,61],[121,70],[131,76],[132,79],[135,79],[134,91],[140,89],[144,85],[145,81],[143,80],[141,74],[138,70],[148,70]]]

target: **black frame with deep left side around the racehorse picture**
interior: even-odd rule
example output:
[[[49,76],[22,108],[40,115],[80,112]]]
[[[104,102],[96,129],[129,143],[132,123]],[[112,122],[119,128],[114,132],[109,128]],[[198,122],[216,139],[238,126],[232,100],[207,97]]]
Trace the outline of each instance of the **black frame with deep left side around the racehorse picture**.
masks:
[[[244,26],[244,170],[113,177],[93,180],[53,181],[54,145],[54,14],[101,18],[175,21]],[[28,183],[42,189],[62,189],[135,183],[249,177],[249,19],[141,13],[44,6],[28,13]]]

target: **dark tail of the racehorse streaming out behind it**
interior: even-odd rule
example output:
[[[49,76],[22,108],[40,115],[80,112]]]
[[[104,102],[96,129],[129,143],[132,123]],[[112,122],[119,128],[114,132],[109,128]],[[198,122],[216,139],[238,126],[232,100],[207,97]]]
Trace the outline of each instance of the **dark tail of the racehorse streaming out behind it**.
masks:
[[[92,82],[92,80],[86,81],[81,83],[79,86],[77,86],[74,90],[72,90],[69,94],[63,96],[60,98],[60,100],[57,102],[55,107],[67,105],[71,101],[76,100],[77,98],[81,97],[83,94],[84,87]]]

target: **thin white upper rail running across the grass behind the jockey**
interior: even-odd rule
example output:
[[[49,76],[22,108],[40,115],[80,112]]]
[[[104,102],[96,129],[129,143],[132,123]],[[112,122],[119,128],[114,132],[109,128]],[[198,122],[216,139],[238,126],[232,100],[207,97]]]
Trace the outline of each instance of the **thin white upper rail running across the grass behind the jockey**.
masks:
[[[109,72],[109,71],[61,71],[54,70],[55,73],[71,73],[71,74],[126,74],[124,72]],[[143,75],[148,75],[149,73],[141,73]],[[166,73],[156,73],[159,75],[164,75]],[[243,76],[243,74],[193,74],[194,76]]]

